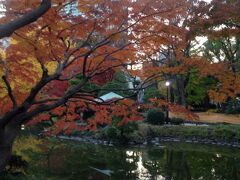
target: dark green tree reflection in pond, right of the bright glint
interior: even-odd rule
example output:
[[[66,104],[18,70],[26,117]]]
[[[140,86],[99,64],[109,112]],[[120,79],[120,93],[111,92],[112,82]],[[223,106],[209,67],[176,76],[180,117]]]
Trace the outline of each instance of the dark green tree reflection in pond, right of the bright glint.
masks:
[[[151,149],[144,154],[143,159],[143,165],[152,179],[240,179],[239,157],[227,154]]]

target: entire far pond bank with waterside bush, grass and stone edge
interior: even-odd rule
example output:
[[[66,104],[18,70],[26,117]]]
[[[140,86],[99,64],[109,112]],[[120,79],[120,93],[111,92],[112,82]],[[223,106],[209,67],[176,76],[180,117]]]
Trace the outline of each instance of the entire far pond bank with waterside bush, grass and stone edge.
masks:
[[[24,134],[28,134],[27,131]],[[37,133],[36,133],[37,134]],[[81,137],[84,141],[107,141],[114,144],[143,144],[154,138],[177,139],[179,141],[198,141],[199,143],[219,142],[240,145],[240,125],[210,124],[203,125],[150,125],[145,122],[129,123],[123,127],[106,126],[97,131],[76,131],[70,136]]]

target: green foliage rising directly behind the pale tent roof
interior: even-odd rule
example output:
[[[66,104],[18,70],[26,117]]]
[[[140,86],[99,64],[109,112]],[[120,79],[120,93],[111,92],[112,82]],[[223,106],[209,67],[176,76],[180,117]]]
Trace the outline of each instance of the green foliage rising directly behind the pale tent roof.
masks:
[[[116,72],[113,80],[106,83],[101,88],[102,90],[98,93],[99,96],[102,96],[109,92],[117,93],[123,97],[130,96],[132,94],[131,91],[125,91],[129,87],[126,75],[122,71]]]

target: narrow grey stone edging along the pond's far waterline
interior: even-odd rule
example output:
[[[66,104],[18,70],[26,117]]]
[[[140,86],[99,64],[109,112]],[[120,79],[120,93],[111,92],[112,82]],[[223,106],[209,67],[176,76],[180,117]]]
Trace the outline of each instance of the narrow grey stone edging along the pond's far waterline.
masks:
[[[84,142],[84,143],[90,143],[95,145],[106,145],[106,146],[161,146],[160,143],[162,142],[185,142],[185,143],[191,143],[191,144],[206,144],[206,145],[216,145],[216,146],[225,146],[225,147],[232,147],[232,148],[240,148],[240,143],[236,141],[227,141],[227,140],[217,140],[217,139],[206,139],[206,138],[198,138],[198,137],[192,137],[192,138],[179,138],[179,137],[153,137],[151,139],[148,139],[146,141],[129,141],[126,144],[122,144],[119,142],[104,140],[104,139],[97,139],[94,137],[89,136],[56,136],[56,138],[62,139],[62,140],[72,140],[72,141],[78,141],[78,142]]]

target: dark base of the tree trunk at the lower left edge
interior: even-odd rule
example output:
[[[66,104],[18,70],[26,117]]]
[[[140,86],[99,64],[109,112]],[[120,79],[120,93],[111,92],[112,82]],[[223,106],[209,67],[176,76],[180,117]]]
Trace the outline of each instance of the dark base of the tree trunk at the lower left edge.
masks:
[[[0,173],[8,165],[12,155],[13,142],[16,139],[20,127],[6,126],[0,130]]]

